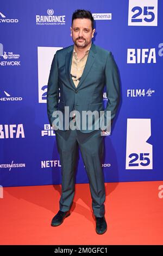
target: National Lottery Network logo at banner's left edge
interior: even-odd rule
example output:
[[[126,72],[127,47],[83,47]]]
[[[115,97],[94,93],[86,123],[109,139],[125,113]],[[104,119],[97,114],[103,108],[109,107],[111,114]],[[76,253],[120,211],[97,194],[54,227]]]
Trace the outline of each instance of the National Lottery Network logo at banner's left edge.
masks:
[[[0,66],[20,66],[20,54],[11,51],[4,51],[0,43]]]

